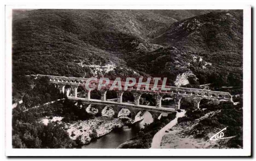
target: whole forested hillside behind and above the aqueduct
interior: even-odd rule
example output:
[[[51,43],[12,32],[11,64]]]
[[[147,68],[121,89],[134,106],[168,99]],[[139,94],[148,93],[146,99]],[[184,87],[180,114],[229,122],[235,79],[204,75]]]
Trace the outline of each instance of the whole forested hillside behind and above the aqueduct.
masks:
[[[13,96],[28,74],[240,86],[242,22],[236,10],[14,10]]]

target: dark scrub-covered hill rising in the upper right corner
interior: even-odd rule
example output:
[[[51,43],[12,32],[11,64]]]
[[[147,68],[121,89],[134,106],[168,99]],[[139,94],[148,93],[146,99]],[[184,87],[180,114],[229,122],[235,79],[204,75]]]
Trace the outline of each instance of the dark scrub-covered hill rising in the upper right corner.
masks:
[[[211,12],[175,22],[153,42],[201,56],[217,71],[240,73],[243,63],[243,11]]]

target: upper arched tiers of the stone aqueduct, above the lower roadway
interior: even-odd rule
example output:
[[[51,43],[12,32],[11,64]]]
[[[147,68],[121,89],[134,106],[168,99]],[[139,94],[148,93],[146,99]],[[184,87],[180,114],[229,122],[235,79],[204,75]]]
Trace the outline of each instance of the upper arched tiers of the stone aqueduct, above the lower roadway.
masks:
[[[37,77],[47,77],[50,83],[55,84],[56,88],[60,89],[60,92],[65,94],[68,98],[78,99],[77,90],[83,89],[84,95],[81,98],[82,100],[91,100],[91,90],[85,89],[85,82],[89,80],[90,87],[98,87],[99,80],[90,81],[88,78],[75,78],[75,77],[61,77],[61,76],[51,76],[51,75],[34,75]],[[100,95],[101,102],[111,102],[107,99],[107,93],[109,91],[110,86],[114,81],[110,81],[107,87],[101,87],[101,90],[98,91],[98,95]],[[154,85],[152,84],[140,84],[136,83],[132,87],[124,89],[125,82],[120,82],[122,84],[122,90],[118,88],[114,88],[113,91],[116,92],[115,100],[119,104],[123,103],[123,95],[124,93],[129,92],[133,95],[134,101],[132,104],[136,106],[140,106],[140,98],[144,94],[151,95],[156,102],[155,108],[162,108],[162,99],[165,97],[170,97],[174,101],[175,109],[180,109],[180,101],[182,98],[186,98],[194,104],[194,108],[199,108],[200,101],[202,99],[210,100],[216,103],[220,101],[232,101],[232,96],[228,92],[220,92],[220,91],[211,91],[206,89],[196,89],[196,88],[181,88],[181,87],[172,87],[165,86],[165,88],[169,88],[170,90],[155,90]],[[146,90],[146,86],[148,86],[148,90]],[[161,87],[161,86],[159,86]],[[93,98],[94,99],[94,98]],[[127,104],[127,103],[125,103]],[[152,107],[152,106],[151,106]]]

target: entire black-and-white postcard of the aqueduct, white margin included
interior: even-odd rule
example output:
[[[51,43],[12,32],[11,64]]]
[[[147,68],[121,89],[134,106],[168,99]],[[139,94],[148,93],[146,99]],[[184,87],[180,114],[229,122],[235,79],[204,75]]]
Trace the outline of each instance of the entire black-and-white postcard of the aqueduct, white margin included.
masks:
[[[251,147],[243,7],[10,11],[11,150]]]

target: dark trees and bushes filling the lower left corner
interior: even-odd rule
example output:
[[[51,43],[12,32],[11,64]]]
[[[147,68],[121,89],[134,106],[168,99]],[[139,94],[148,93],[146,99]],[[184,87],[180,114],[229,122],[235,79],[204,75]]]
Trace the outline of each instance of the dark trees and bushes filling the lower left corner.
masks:
[[[79,101],[75,105],[69,100],[36,108],[28,107],[26,103],[19,104],[12,110],[13,148],[73,148],[77,144],[69,138],[65,123],[92,118],[80,105]],[[50,119],[61,116],[63,123],[56,121],[44,125],[41,119],[45,116]]]

